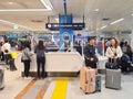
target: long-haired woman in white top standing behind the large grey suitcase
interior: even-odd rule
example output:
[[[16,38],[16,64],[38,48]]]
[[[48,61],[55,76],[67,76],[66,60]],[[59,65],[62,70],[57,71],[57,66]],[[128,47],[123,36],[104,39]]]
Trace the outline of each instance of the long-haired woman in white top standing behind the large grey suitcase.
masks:
[[[116,63],[119,65],[123,53],[114,37],[111,38],[111,46],[106,48],[105,55],[109,57],[109,63]]]

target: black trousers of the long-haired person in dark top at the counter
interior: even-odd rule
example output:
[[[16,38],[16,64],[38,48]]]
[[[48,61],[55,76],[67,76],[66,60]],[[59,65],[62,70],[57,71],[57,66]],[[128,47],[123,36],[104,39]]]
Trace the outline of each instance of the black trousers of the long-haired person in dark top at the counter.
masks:
[[[37,65],[38,65],[38,77],[44,78],[45,77],[45,72],[44,72],[45,57],[37,57]],[[40,69],[42,69],[42,73],[40,73]]]

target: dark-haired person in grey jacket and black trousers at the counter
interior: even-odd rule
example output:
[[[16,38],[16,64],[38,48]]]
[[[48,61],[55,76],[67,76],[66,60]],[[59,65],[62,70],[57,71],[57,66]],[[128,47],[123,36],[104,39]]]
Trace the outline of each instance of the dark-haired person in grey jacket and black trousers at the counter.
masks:
[[[24,77],[28,78],[29,77],[29,70],[30,70],[30,63],[31,63],[31,53],[30,53],[31,48],[30,48],[30,43],[25,42],[23,45],[23,51],[22,51],[22,57],[21,57],[21,62],[24,65]]]

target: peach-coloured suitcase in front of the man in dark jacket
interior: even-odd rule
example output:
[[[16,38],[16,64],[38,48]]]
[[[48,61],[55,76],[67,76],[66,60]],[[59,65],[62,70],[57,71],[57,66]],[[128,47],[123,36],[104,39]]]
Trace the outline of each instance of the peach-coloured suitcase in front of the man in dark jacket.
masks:
[[[80,70],[80,88],[85,94],[95,92],[95,69],[82,67]]]

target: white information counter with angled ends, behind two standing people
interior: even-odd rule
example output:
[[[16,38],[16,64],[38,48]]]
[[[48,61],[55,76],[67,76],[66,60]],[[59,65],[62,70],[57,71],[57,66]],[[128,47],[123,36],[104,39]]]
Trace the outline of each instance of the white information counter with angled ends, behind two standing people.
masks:
[[[23,63],[21,63],[21,53],[16,58],[17,67],[23,72]],[[35,54],[31,56],[30,72],[37,72]],[[45,53],[45,72],[79,72],[83,66],[83,58],[79,53]]]

